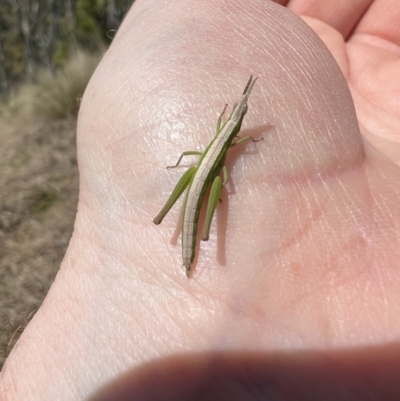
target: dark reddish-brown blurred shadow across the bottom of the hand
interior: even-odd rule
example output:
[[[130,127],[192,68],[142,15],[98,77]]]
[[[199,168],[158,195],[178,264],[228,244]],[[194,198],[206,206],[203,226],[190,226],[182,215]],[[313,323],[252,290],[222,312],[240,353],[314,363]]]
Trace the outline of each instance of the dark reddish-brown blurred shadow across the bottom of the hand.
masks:
[[[336,351],[216,352],[156,360],[90,401],[399,400],[400,345]]]

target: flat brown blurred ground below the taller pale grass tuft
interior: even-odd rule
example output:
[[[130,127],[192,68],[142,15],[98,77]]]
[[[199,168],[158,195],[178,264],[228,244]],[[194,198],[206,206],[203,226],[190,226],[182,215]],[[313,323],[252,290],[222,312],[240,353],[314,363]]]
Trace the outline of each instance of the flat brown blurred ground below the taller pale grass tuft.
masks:
[[[43,302],[78,203],[76,120],[0,121],[0,369]]]

